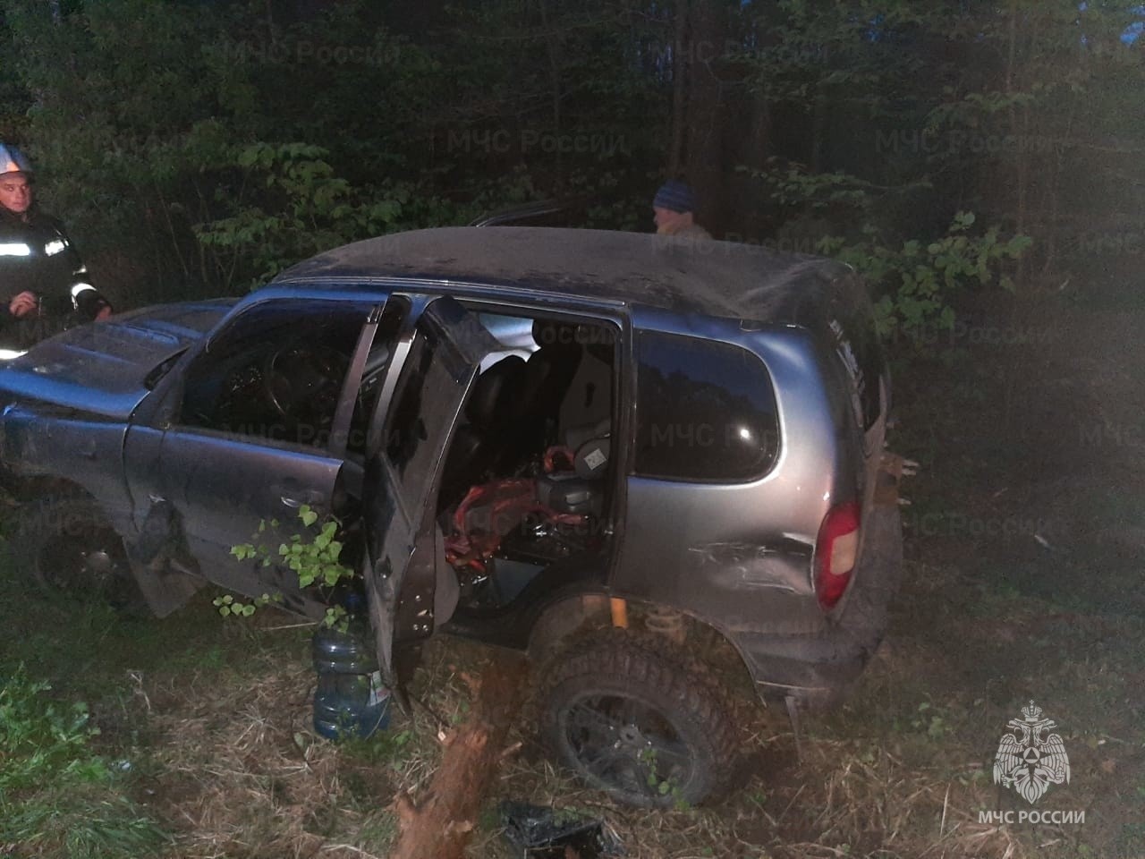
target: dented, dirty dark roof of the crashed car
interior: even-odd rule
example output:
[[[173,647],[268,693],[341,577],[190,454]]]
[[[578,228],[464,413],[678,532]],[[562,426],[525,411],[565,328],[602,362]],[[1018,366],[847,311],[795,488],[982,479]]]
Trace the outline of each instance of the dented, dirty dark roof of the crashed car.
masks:
[[[800,324],[851,269],[759,245],[641,233],[449,227],[398,233],[318,254],[279,275],[348,286],[409,279],[489,284],[685,313]],[[850,279],[850,278],[847,278]]]

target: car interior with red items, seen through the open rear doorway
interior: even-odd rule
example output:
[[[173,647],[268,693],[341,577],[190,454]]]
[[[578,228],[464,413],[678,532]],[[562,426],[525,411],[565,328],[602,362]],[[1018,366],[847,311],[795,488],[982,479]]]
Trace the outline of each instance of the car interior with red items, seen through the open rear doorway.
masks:
[[[611,325],[480,318],[505,352],[483,362],[463,405],[437,501],[468,612],[503,608],[552,564],[606,551],[617,386]]]

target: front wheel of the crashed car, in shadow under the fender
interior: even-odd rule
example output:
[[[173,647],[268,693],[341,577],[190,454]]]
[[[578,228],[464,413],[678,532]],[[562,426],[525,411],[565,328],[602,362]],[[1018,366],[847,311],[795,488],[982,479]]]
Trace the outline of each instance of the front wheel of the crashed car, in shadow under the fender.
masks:
[[[90,498],[27,505],[8,544],[16,569],[45,594],[127,610],[144,606],[123,539]]]

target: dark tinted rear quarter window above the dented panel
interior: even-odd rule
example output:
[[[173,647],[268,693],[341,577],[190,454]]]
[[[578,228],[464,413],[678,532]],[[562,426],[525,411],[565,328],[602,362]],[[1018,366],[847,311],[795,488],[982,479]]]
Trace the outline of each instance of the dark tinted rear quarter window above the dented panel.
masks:
[[[638,474],[741,481],[775,464],[779,419],[763,361],[731,344],[652,331],[637,348]]]

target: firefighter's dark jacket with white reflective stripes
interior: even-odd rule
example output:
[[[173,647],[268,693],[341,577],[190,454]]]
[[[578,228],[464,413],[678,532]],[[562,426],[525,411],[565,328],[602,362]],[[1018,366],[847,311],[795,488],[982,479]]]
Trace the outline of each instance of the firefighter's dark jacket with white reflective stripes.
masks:
[[[63,224],[33,206],[27,221],[0,206],[0,347],[27,348],[70,324],[90,322],[110,304],[87,285],[87,269]],[[39,313],[16,320],[8,302],[34,292]]]

